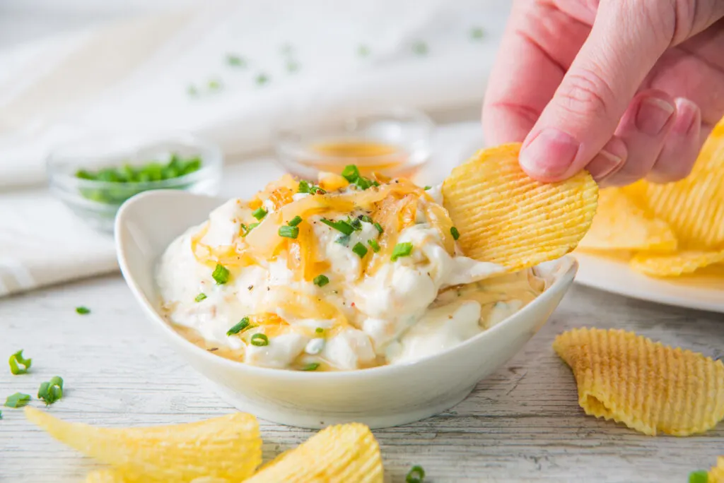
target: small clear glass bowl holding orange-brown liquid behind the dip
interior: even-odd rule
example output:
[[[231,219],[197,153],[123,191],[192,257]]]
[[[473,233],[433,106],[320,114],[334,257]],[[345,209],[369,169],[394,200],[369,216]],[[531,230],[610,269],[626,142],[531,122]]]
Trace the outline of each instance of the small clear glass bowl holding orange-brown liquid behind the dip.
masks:
[[[356,164],[366,175],[376,171],[412,176],[429,161],[434,127],[432,119],[412,108],[307,113],[300,121],[279,127],[274,145],[279,163],[305,179],[316,179],[320,171],[338,174],[348,164]],[[367,153],[355,154],[355,146]],[[370,154],[375,148],[378,154]]]

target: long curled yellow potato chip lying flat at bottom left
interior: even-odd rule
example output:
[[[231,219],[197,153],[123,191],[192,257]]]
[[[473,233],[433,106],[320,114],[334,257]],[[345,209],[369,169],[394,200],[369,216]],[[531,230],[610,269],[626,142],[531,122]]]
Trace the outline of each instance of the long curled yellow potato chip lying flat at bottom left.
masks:
[[[127,483],[190,482],[201,476],[240,482],[261,463],[259,426],[251,414],[140,428],[69,423],[30,406],[25,416],[62,443],[112,466]]]

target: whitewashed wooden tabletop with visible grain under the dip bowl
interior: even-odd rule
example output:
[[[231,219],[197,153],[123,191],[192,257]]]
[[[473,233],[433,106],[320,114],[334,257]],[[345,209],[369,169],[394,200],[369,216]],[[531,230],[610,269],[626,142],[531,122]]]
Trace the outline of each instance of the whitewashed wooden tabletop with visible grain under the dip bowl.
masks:
[[[87,305],[90,315],[77,315]],[[531,342],[450,411],[381,429],[387,480],[420,464],[426,481],[686,482],[724,455],[724,423],[696,437],[648,437],[586,416],[576,385],[551,343],[579,325],[626,328],[704,354],[724,354],[724,316],[663,307],[574,287]],[[25,349],[33,372],[4,363]],[[0,300],[0,398],[35,396],[54,375],[66,382],[52,414],[108,426],[189,422],[233,409],[161,342],[120,276]],[[33,406],[43,406],[33,401]],[[0,482],[79,482],[93,463],[3,409]],[[312,434],[261,422],[265,461]]]

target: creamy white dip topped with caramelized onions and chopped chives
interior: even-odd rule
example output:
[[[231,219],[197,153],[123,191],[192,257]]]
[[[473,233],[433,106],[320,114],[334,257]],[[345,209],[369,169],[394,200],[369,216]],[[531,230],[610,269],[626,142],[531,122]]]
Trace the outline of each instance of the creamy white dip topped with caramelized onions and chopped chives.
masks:
[[[172,325],[247,364],[360,369],[449,349],[543,291],[463,256],[439,190],[348,178],[285,176],[174,240],[156,275]]]

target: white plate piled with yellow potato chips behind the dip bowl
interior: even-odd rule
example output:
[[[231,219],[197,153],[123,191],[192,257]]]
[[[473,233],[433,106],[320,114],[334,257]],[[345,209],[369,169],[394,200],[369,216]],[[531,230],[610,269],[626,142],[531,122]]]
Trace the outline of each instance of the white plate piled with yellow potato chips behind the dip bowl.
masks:
[[[724,119],[686,179],[602,189],[576,253],[584,285],[724,312]]]

